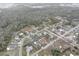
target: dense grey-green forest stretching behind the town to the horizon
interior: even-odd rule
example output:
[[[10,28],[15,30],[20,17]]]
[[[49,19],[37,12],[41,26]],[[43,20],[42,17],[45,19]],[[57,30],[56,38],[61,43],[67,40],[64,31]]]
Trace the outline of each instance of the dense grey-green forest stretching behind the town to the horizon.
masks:
[[[6,50],[13,33],[25,26],[39,26],[48,18],[52,20],[50,24],[54,24],[58,22],[54,18],[55,16],[67,17],[68,20],[79,18],[79,8],[76,7],[61,7],[58,4],[50,4],[51,7],[38,9],[28,8],[24,5],[27,4],[18,4],[16,7],[0,9],[2,11],[0,12],[0,51]]]

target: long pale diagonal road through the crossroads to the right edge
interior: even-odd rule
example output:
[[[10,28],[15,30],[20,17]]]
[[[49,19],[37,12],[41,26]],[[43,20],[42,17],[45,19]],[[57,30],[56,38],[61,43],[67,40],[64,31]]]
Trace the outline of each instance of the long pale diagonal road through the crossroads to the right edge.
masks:
[[[71,30],[67,31],[64,35],[61,35],[61,36],[58,36],[58,35],[56,35],[56,34],[50,32],[51,34],[54,34],[54,35],[58,36],[58,38],[57,38],[56,40],[51,41],[51,42],[50,42],[49,44],[47,44],[44,48],[41,48],[40,50],[36,51],[36,52],[33,53],[32,55],[36,55],[37,53],[41,52],[41,51],[44,50],[45,48],[49,47],[49,46],[52,45],[55,41],[59,40],[59,38],[61,38],[61,39],[63,39],[63,38],[66,39],[64,36],[67,35],[68,33],[70,33],[71,31],[77,29],[78,27],[79,27],[79,25],[77,25],[76,27],[74,27],[74,28],[72,28]],[[49,32],[49,31],[48,31],[48,32]],[[64,40],[64,41],[68,42],[67,40]],[[76,45],[75,43],[71,43],[71,44],[72,44],[72,45]]]

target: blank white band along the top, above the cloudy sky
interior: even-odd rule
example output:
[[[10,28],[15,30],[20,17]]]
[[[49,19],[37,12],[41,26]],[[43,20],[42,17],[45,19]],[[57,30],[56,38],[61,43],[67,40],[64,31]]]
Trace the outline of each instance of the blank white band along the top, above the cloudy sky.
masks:
[[[79,0],[0,0],[0,3],[79,3]]]

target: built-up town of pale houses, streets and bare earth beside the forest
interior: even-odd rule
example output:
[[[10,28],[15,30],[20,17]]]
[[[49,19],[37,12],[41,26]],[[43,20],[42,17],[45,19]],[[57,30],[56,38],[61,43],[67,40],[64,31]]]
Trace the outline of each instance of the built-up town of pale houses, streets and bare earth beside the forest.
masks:
[[[51,20],[41,24],[43,28],[35,26],[28,26],[16,33],[14,40],[9,44],[7,50],[25,49],[26,55],[52,55],[52,49],[58,49],[64,55],[71,55],[69,50],[76,50],[78,48],[78,25],[68,25],[68,20],[61,16],[55,17],[59,22],[50,25]],[[77,26],[77,28],[75,28]],[[20,46],[22,45],[22,46]],[[21,48],[22,47],[22,48]],[[42,52],[45,51],[46,53]],[[48,50],[48,51],[47,51]],[[67,50],[67,51],[66,51]],[[78,50],[76,50],[77,52]],[[68,52],[68,53],[67,53]],[[72,51],[73,52],[73,51]],[[75,53],[76,53],[75,52]],[[18,52],[19,54],[19,52]],[[75,54],[74,54],[75,55]]]

